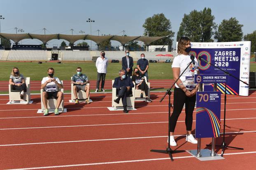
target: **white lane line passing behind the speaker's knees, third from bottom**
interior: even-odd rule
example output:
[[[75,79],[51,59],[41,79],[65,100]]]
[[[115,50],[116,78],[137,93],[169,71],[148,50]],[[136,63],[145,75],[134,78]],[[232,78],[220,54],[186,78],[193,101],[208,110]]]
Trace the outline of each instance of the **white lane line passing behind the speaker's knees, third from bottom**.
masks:
[[[231,118],[226,120],[246,120],[256,118]],[[223,119],[221,119],[223,120]],[[177,122],[185,122],[177,121]],[[195,120],[193,120],[195,122]],[[112,126],[112,125],[140,125],[140,124],[157,124],[157,123],[168,123],[168,122],[134,122],[134,123],[113,123],[113,124],[96,124],[96,125],[70,125],[70,126],[46,126],[46,127],[17,127],[17,128],[5,128],[0,130],[16,130],[16,129],[44,129],[44,128],[60,128],[60,127],[92,127],[92,126]]]

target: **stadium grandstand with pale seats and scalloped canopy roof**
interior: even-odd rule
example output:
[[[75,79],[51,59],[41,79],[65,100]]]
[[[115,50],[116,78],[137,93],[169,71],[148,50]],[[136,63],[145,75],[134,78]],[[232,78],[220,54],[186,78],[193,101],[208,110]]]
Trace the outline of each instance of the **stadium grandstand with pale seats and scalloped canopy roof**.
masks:
[[[79,40],[92,40],[98,45],[104,41],[119,41],[125,48],[126,43],[130,41],[142,41],[147,50],[143,51],[131,51],[130,56],[136,61],[140,59],[140,54],[144,53],[147,59],[156,61],[172,60],[176,56],[176,52],[156,52],[148,51],[149,45],[159,39],[163,39],[166,36],[93,36],[93,35],[65,35],[65,34],[7,34],[0,33],[0,38],[10,39],[14,41],[11,49],[0,48],[0,60],[2,61],[92,61],[93,57],[100,56],[100,50],[91,50],[88,47],[73,46],[76,41]],[[42,41],[44,45],[48,41],[53,39],[63,39],[70,42],[70,48],[42,48],[42,45],[20,45],[19,42],[23,39],[38,39]],[[118,48],[106,48],[106,57],[109,60],[121,60],[125,55],[124,48],[119,50]],[[139,49],[137,49],[139,50]]]

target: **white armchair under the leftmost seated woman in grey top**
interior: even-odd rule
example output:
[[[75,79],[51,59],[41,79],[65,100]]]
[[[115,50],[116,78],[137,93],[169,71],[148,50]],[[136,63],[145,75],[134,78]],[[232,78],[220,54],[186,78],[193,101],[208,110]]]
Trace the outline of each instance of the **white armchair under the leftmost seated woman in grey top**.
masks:
[[[24,92],[23,100],[26,100],[27,102],[30,101],[30,77],[24,77],[24,81],[26,83],[27,92]],[[17,101],[21,100],[20,97],[20,91],[12,90],[12,84],[9,84],[9,101]]]

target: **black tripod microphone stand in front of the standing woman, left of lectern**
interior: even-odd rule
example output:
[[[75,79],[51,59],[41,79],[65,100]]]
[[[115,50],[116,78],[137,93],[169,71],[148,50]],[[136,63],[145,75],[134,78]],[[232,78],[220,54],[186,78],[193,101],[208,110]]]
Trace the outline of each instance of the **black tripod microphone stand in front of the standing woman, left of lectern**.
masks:
[[[172,150],[170,148],[170,122],[171,122],[171,108],[172,107],[172,104],[171,104],[171,95],[172,95],[172,92],[171,92],[171,89],[172,87],[176,84],[176,82],[179,80],[179,78],[183,75],[183,73],[187,70],[187,68],[191,65],[191,63],[194,61],[194,59],[192,59],[192,61],[189,63],[189,65],[186,67],[186,69],[182,72],[182,74],[179,75],[179,77],[176,79],[176,81],[174,82],[174,84],[172,84],[171,88],[169,88],[165,95],[161,98],[160,102],[163,101],[163,99],[165,98],[166,95],[169,95],[169,104],[168,104],[168,148],[166,150],[150,150],[151,152],[158,152],[158,153],[162,153],[162,154],[169,154],[170,156],[170,159],[171,161],[173,161],[173,158],[172,158],[172,154],[175,154],[175,153],[181,153],[181,152],[185,152],[184,150]]]

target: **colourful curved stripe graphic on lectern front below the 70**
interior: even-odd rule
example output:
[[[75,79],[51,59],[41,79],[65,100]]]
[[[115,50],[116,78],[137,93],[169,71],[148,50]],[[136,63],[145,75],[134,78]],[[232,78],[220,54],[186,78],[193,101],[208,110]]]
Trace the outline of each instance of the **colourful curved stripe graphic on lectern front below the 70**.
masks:
[[[205,107],[197,107],[196,108],[196,114],[202,113],[204,111],[206,111],[208,113],[209,119],[212,123],[212,132],[213,132],[214,138],[219,137],[219,134],[220,134],[219,130],[221,128],[221,125],[220,125],[221,121],[211,110],[209,110]]]

